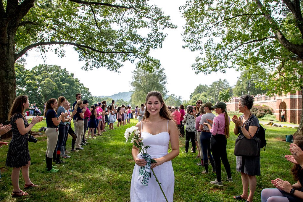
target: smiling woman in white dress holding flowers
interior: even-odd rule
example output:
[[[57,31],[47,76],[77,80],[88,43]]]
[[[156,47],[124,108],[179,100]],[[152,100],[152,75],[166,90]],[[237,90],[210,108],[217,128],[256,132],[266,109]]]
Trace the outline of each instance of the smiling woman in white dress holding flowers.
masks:
[[[136,127],[139,127],[144,145],[150,146],[147,153],[157,161],[151,164],[151,168],[161,183],[167,200],[173,201],[175,175],[171,160],[179,155],[179,131],[160,92],[149,92],[145,105],[143,120],[139,121]],[[168,153],[169,141],[171,142],[171,152]],[[132,156],[136,164],[132,174],[131,201],[166,201],[154,175],[151,175],[148,186],[141,183],[139,170],[140,167],[145,166],[146,161],[135,146],[132,148]]]

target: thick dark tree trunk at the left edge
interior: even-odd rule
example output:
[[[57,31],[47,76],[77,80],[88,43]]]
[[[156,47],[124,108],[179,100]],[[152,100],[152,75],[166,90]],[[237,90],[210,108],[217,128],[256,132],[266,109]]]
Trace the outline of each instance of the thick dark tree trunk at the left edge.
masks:
[[[0,29],[2,28],[0,27]],[[0,38],[0,96],[2,98],[2,103],[0,104],[0,123],[5,125],[9,123],[8,111],[16,97],[14,36],[6,35],[0,36]],[[12,132],[10,131],[5,136],[11,135]]]

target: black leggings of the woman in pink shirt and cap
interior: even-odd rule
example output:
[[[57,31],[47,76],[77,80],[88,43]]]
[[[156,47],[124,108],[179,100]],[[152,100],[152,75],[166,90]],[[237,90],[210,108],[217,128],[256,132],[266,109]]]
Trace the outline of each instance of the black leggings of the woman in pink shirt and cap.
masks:
[[[215,167],[216,167],[216,174],[217,174],[217,180],[218,182],[221,182],[221,161],[225,167],[227,177],[231,178],[231,170],[230,170],[230,164],[227,159],[227,153],[226,153],[226,144],[227,140],[225,138],[225,135],[216,134],[211,135],[210,138],[210,148],[211,153],[215,160]],[[220,160],[221,158],[221,160]]]

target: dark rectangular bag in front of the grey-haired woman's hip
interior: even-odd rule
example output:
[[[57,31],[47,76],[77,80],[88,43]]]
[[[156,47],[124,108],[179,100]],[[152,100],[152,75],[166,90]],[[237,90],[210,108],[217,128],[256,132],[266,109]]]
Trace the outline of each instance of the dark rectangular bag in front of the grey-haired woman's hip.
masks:
[[[246,137],[242,137],[240,139],[236,139],[234,154],[236,156],[258,157],[260,156],[260,146],[261,146],[260,139],[258,138],[248,139]]]

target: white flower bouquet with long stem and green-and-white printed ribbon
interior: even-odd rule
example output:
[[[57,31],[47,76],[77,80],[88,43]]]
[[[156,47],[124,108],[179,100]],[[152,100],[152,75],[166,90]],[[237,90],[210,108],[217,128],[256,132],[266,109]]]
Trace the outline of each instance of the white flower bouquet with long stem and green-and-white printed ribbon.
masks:
[[[150,173],[150,170],[151,170],[156,178],[156,182],[158,182],[158,184],[159,184],[159,187],[165,197],[165,200],[168,201],[164,194],[164,191],[162,190],[161,183],[159,182],[154,170],[151,168],[151,164],[156,163],[157,161],[155,159],[152,159],[151,155],[147,153],[147,148],[149,148],[150,146],[149,145],[144,146],[144,144],[142,142],[143,137],[139,137],[140,131],[138,129],[139,128],[135,127],[135,126],[127,128],[124,133],[124,137],[126,139],[126,142],[128,141],[129,138],[131,138],[131,143],[133,143],[135,145],[135,147],[138,148],[139,153],[141,153],[142,158],[146,161],[146,165],[140,168],[139,179],[140,180],[142,179],[141,180],[142,184],[147,186],[149,177],[151,177],[151,173]]]

